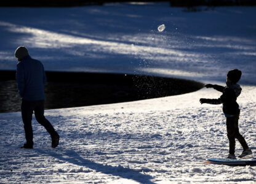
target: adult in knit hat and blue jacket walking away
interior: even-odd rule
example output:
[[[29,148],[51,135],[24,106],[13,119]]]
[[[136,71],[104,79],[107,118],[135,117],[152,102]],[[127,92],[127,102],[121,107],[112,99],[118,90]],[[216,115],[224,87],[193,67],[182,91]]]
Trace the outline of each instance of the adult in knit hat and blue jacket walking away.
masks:
[[[25,129],[26,143],[21,148],[33,148],[33,129],[31,125],[32,116],[40,123],[52,138],[52,147],[58,146],[60,136],[54,127],[44,117],[44,85],[46,84],[46,73],[44,66],[28,54],[28,49],[20,46],[15,50],[18,59],[16,80],[18,93],[22,98],[22,120]]]

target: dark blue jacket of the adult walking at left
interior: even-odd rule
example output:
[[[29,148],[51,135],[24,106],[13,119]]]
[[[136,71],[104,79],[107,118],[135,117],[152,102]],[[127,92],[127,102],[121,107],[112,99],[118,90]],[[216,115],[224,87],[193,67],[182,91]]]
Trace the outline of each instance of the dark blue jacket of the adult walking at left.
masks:
[[[26,56],[17,64],[16,80],[18,93],[26,101],[44,100],[46,73],[44,66],[36,59]]]

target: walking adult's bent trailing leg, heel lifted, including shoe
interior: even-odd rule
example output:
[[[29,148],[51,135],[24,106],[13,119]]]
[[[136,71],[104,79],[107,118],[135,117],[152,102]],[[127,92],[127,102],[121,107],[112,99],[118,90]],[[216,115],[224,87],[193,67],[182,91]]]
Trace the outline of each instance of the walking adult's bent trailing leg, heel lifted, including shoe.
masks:
[[[44,101],[37,102],[37,105],[34,108],[34,116],[36,117],[38,123],[46,128],[47,132],[50,134],[50,137],[52,137],[52,147],[57,147],[60,136],[58,136],[58,133],[54,130],[52,124],[50,124],[46,117],[44,117]]]

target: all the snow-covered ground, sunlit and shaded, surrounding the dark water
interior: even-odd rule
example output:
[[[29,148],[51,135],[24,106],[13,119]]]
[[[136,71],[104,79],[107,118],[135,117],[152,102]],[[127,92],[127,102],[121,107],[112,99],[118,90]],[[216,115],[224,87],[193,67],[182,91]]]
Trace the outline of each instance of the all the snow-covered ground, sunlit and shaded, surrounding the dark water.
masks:
[[[15,69],[26,45],[47,71],[152,74],[225,85],[243,72],[240,131],[255,150],[256,7],[183,12],[166,3],[71,8],[0,8],[0,69]],[[166,29],[159,32],[158,26]],[[202,89],[166,98],[47,110],[60,134],[35,120],[34,149],[20,113],[0,114],[0,183],[254,183],[256,167],[204,163],[228,154],[221,105]],[[86,97],[85,97],[86,98]],[[241,153],[239,143],[236,155]]]

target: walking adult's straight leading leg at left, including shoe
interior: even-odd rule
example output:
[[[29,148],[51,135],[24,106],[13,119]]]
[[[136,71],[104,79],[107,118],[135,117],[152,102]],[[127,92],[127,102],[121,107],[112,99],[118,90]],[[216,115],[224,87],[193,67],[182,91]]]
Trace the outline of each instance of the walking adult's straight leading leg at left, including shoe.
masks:
[[[26,144],[23,148],[33,148],[33,129],[31,125],[33,102],[22,100],[22,120],[24,124]]]

